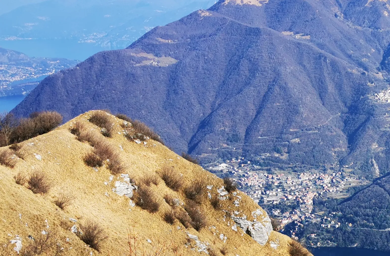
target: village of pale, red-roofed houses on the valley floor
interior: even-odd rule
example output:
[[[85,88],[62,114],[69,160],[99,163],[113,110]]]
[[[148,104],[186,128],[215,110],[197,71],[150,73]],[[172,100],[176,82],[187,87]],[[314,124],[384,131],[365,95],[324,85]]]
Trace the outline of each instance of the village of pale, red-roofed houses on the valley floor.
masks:
[[[219,177],[234,179],[238,188],[266,209],[270,217],[280,220],[282,229],[291,222],[297,224],[296,228],[305,223],[319,223],[324,229],[339,228],[340,225],[351,227],[351,223],[338,221],[338,217],[342,215],[340,212],[332,212],[326,216],[324,212],[313,211],[314,198],[322,200],[346,198],[350,196],[348,188],[368,183],[359,179],[348,167],[324,165],[320,170],[314,167],[289,165],[281,170],[261,167],[243,157],[205,166]],[[291,237],[294,237],[294,231],[290,230]]]

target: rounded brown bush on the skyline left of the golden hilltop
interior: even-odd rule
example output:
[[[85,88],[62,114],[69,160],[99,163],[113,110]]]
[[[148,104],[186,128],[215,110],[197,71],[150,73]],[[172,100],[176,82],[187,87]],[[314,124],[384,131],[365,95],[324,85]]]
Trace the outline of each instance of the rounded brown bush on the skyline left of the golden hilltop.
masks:
[[[62,123],[62,116],[54,111],[39,112],[31,118],[35,123],[37,135],[48,133]]]

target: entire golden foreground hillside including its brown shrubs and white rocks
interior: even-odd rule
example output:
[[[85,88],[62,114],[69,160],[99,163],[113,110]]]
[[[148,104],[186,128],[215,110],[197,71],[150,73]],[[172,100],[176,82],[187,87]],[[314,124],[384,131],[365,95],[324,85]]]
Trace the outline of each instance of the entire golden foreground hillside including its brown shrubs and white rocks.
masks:
[[[290,255],[253,200],[133,127],[90,111],[0,148],[0,255]]]

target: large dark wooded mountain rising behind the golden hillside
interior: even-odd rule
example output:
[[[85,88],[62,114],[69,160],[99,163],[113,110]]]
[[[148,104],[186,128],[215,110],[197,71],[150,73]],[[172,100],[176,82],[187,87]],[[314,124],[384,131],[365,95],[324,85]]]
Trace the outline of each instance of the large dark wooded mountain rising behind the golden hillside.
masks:
[[[202,161],[388,169],[388,10],[378,0],[221,0],[44,79],[12,112],[124,112]],[[387,10],[387,11],[386,11]]]

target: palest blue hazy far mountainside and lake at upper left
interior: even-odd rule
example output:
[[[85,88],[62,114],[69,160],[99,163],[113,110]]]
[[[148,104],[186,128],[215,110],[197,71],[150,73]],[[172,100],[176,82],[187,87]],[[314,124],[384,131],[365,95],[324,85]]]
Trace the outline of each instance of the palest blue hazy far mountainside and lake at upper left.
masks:
[[[86,59],[124,49],[153,27],[214,0],[48,0],[0,15],[0,46],[30,56]]]

